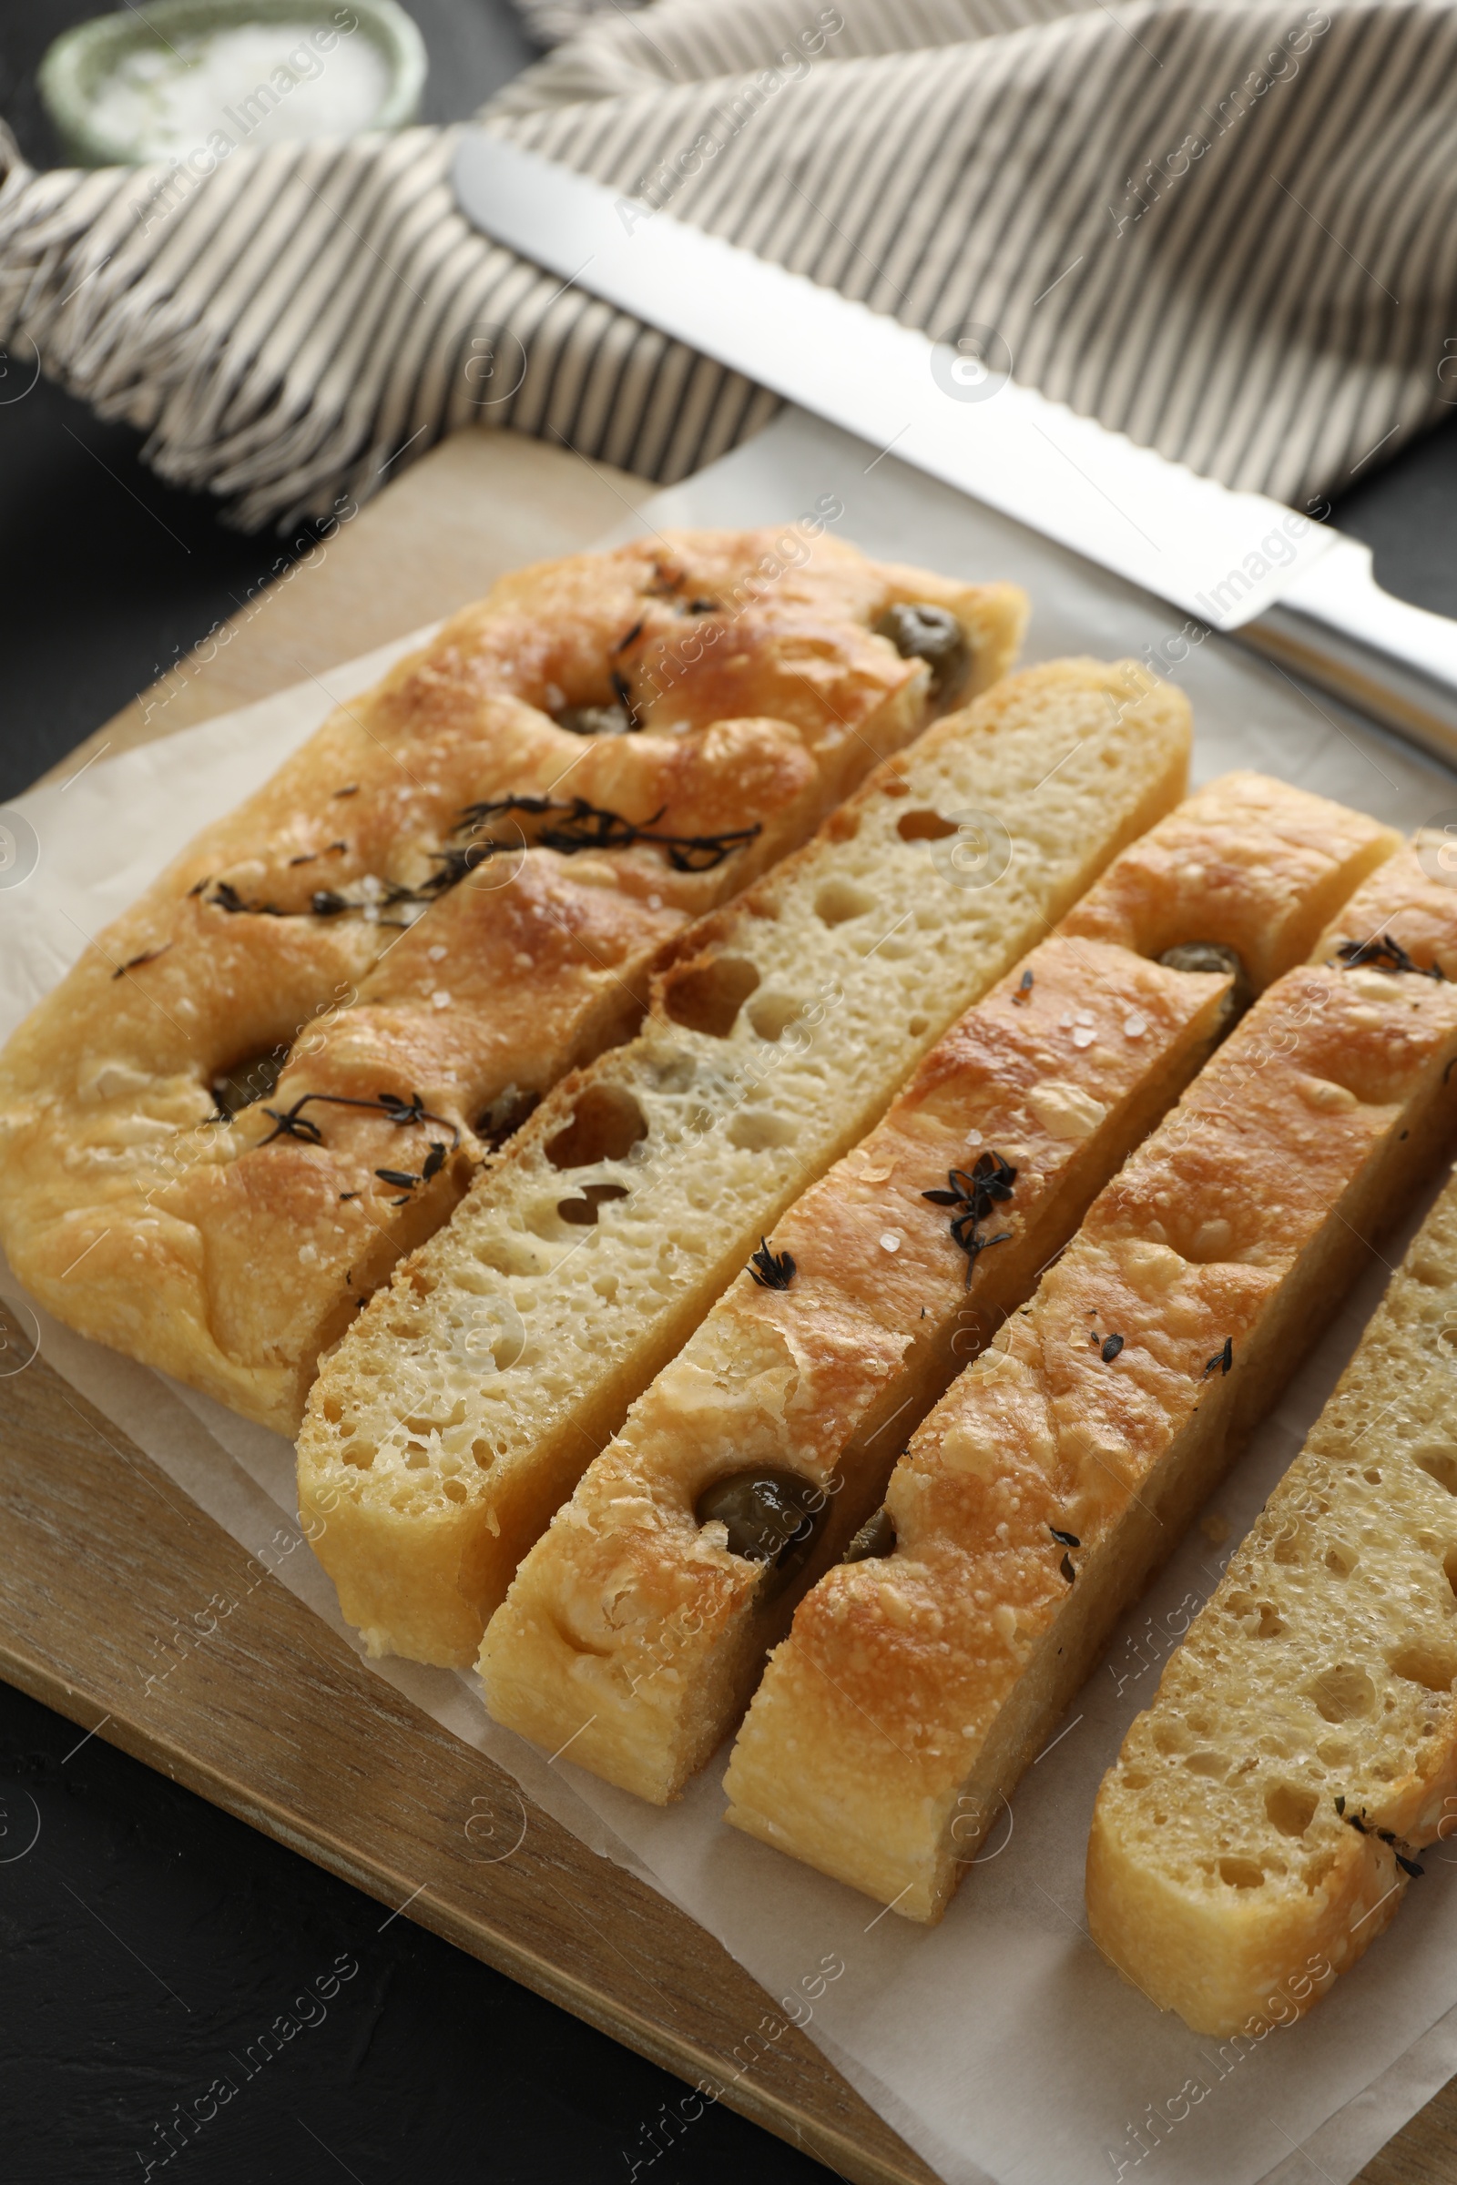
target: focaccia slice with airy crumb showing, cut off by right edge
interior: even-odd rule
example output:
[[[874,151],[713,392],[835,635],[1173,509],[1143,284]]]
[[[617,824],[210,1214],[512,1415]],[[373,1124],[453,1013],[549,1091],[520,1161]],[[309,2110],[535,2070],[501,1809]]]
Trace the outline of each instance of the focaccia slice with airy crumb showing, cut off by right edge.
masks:
[[[1433,889],[1457,975],[1450,905]],[[1422,924],[1343,920],[1343,940],[1429,964]],[[1090,1934],[1195,2032],[1236,2032],[1276,1993],[1308,2008],[1391,1923],[1418,1853],[1457,1835],[1455,1326],[1448,1182],[1103,1776]]]

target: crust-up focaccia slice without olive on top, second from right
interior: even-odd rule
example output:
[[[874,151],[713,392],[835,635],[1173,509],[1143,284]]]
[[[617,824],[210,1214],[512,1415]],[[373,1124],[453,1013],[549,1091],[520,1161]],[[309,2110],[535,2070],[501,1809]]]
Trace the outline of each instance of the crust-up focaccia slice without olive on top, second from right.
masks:
[[[1341,920],[1348,957],[1411,933],[1431,966],[1433,894],[1402,850]],[[1457,988],[1422,970],[1337,957],[1260,996],[911,1442],[891,1554],[799,1604],[730,1761],[736,1827],[941,1914],[1112,1623],[1431,1173],[1455,1058]]]

